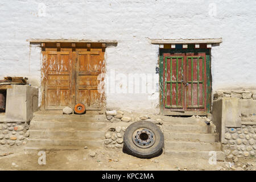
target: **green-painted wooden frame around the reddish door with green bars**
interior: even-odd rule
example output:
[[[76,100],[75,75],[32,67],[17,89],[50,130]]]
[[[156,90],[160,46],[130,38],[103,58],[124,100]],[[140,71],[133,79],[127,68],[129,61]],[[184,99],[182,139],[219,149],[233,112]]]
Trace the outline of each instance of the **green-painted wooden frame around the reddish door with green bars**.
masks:
[[[206,110],[205,111],[168,111],[164,109],[164,81],[163,81],[163,53],[198,53],[205,52],[206,57]],[[211,60],[210,49],[159,49],[159,105],[160,113],[164,115],[207,115],[211,110],[212,101],[212,76],[211,76]]]

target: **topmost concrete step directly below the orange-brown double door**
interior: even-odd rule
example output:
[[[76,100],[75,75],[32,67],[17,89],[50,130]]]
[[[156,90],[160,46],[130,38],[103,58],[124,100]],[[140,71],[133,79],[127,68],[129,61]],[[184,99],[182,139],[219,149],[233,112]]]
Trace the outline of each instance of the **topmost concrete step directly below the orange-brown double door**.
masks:
[[[33,121],[80,121],[80,122],[104,122],[105,114],[34,114]]]

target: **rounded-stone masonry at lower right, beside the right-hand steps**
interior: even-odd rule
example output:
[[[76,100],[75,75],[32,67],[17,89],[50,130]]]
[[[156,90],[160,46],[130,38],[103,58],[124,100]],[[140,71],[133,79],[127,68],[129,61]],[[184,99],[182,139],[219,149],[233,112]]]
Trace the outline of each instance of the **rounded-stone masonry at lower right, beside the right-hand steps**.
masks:
[[[242,125],[242,127],[225,127],[225,139],[222,148],[229,159],[255,156],[256,125]]]

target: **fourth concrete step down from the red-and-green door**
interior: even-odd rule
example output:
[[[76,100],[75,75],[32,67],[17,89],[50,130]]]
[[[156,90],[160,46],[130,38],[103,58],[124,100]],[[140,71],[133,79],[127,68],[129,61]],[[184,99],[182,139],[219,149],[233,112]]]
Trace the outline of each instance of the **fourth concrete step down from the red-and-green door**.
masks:
[[[165,141],[165,150],[196,150],[196,151],[220,151],[221,144],[218,142],[174,142]]]

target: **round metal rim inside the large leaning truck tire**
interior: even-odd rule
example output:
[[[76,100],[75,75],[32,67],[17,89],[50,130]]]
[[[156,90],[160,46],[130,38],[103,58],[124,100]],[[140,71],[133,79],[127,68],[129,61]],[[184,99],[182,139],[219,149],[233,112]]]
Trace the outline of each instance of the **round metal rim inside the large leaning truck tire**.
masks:
[[[151,147],[155,143],[155,134],[146,128],[137,129],[133,133],[133,143],[140,148]]]

